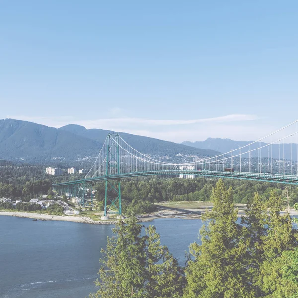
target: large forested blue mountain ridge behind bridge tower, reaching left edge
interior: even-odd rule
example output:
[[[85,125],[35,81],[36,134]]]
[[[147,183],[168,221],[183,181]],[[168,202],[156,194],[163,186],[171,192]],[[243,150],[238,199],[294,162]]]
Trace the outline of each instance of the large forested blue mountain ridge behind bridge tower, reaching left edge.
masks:
[[[15,120],[0,120],[0,159],[24,160],[50,164],[70,163],[76,160],[97,156],[111,131],[86,129],[80,125],[69,124],[60,128]],[[119,133],[133,148],[154,156],[174,157],[176,154],[195,156],[214,156],[218,152],[199,149],[183,144],[159,139]]]

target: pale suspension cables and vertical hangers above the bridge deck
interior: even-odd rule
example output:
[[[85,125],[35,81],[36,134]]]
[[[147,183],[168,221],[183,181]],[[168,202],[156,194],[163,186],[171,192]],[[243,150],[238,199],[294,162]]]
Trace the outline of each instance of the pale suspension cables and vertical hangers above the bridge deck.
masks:
[[[162,161],[162,160],[157,160],[154,159],[148,155],[145,155],[141,152],[139,152],[138,150],[134,149],[131,145],[129,145],[121,136],[118,135],[117,140],[115,139],[115,136],[111,135],[111,144],[109,145],[110,147],[107,148],[106,146],[106,142],[107,139],[105,140],[103,147],[100,151],[100,153],[98,154],[93,166],[91,167],[91,169],[89,170],[89,172],[86,174],[85,178],[89,178],[89,177],[96,177],[96,176],[103,176],[106,172],[106,156],[107,156],[107,152],[108,150],[110,150],[110,155],[111,156],[116,156],[116,154],[120,155],[120,167],[119,167],[119,171],[120,172],[137,172],[137,171],[156,171],[156,170],[163,170],[163,169],[173,169],[173,168],[179,168],[180,166],[201,166],[202,169],[206,168],[206,166],[208,165],[208,169],[210,169],[210,167],[212,168],[213,165],[215,165],[215,170],[219,170],[219,163],[224,163],[224,168],[226,166],[226,162],[228,160],[230,160],[230,164],[231,167],[233,168],[234,166],[234,161],[235,158],[239,158],[240,159],[240,172],[242,171],[242,162],[243,160],[245,161],[245,157],[248,154],[248,172],[251,172],[251,155],[253,152],[256,152],[256,156],[258,159],[258,172],[262,173],[263,172],[263,163],[262,160],[266,157],[262,157],[262,149],[267,147],[267,163],[268,163],[268,171],[267,172],[272,172],[273,171],[273,158],[272,158],[272,154],[273,154],[273,150],[272,150],[272,144],[276,144],[278,143],[278,152],[279,152],[279,157],[278,157],[278,168],[279,168],[279,174],[281,173],[281,165],[283,162],[283,173],[285,174],[285,165],[286,165],[286,160],[285,160],[285,142],[284,140],[292,137],[293,135],[297,135],[298,131],[293,132],[287,136],[283,136],[282,138],[278,138],[277,140],[273,141],[273,135],[284,131],[285,128],[290,127],[293,124],[296,124],[297,126],[298,120],[292,122],[291,124],[276,130],[274,133],[271,133],[269,135],[267,135],[266,137],[260,138],[257,141],[251,142],[247,145],[241,146],[237,149],[233,149],[230,150],[229,152],[225,152],[222,154],[219,154],[217,156],[213,156],[213,157],[208,157],[208,158],[202,158],[200,160],[196,160],[196,161],[192,161],[192,162],[183,162],[183,163],[172,163],[172,162],[166,162],[166,161]],[[267,137],[271,137],[271,141],[269,143],[261,143],[261,140],[264,140]],[[283,155],[282,155],[282,160],[281,160],[281,142],[282,141],[282,145],[283,145]],[[257,144],[258,143],[258,147],[257,148],[253,148],[251,149],[253,144]],[[262,145],[264,144],[264,145]],[[118,150],[120,152],[116,152],[116,148],[118,148]],[[243,150],[247,148],[248,150]],[[296,148],[298,148],[298,145],[296,145]],[[292,146],[290,148],[290,150],[292,150]],[[234,154],[236,153],[236,154]],[[298,149],[296,152],[296,155],[298,155]],[[263,155],[264,156],[264,155]],[[266,156],[266,154],[265,154]],[[292,153],[291,153],[292,156]],[[115,158],[114,158],[115,159]],[[114,161],[110,161],[111,163],[116,163],[116,160]],[[271,167],[270,167],[270,162],[271,162]],[[265,166],[266,168],[266,166]],[[224,169],[223,169],[224,170]],[[247,170],[246,170],[247,171]],[[266,170],[265,170],[266,171]],[[111,167],[110,168],[110,173],[111,174],[115,174],[117,172],[116,167]],[[293,172],[293,169],[292,169]],[[297,172],[298,172],[298,166],[297,166]]]

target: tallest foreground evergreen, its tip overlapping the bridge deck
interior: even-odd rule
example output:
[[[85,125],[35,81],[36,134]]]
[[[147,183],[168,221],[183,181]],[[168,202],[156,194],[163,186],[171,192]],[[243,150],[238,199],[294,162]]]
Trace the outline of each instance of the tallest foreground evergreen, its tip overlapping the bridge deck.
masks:
[[[204,214],[208,221],[200,230],[202,244],[190,246],[193,259],[186,269],[185,298],[254,298],[247,283],[248,241],[242,226],[236,223],[232,190],[219,180],[212,191],[213,210]],[[245,229],[245,228],[244,228]]]

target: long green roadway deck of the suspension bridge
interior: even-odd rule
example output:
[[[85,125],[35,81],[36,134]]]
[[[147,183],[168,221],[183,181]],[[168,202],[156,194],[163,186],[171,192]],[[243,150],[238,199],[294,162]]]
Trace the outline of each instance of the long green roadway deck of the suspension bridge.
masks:
[[[152,175],[196,175],[201,177],[213,178],[232,178],[244,179],[264,182],[276,182],[284,184],[298,184],[298,176],[292,175],[279,175],[279,174],[266,174],[266,173],[247,173],[247,172],[221,172],[221,171],[208,171],[208,170],[155,170],[155,171],[140,171],[131,173],[120,173],[108,176],[85,178],[81,180],[68,181],[58,184],[53,184],[53,187],[63,187],[67,185],[80,184],[83,182],[102,181],[108,179],[131,178]]]

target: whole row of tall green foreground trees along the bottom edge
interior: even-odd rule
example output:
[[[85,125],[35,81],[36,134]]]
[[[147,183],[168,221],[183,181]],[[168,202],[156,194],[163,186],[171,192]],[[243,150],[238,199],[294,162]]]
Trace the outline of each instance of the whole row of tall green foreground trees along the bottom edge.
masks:
[[[155,228],[132,219],[120,221],[103,250],[99,290],[91,298],[298,298],[298,232],[282,198],[267,201],[256,192],[246,216],[237,221],[235,193],[219,180],[208,198],[200,242],[190,244],[184,268]]]

